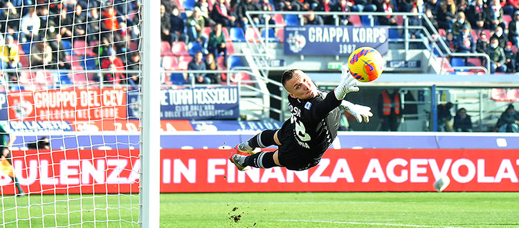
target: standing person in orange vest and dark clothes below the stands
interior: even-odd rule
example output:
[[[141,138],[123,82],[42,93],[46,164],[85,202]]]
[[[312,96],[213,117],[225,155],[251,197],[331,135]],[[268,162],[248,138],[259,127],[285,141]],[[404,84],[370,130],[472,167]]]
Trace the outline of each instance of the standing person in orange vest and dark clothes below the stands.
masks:
[[[378,99],[381,131],[398,131],[401,122],[401,102],[398,89],[385,89]]]

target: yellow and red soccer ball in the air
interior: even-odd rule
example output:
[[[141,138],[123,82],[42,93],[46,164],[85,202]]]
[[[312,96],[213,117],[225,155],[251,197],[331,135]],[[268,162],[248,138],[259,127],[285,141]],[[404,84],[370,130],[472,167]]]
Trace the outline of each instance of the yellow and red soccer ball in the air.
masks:
[[[371,82],[378,78],[382,73],[384,63],[379,51],[370,47],[357,48],[348,58],[349,72],[361,82]]]

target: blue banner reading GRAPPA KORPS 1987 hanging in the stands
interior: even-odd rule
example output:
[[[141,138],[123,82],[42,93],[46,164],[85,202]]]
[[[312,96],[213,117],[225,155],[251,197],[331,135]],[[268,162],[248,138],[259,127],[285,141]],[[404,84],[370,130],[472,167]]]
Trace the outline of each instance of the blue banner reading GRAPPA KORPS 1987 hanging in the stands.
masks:
[[[368,46],[388,52],[388,28],[382,26],[298,26],[284,28],[284,55],[344,55]]]

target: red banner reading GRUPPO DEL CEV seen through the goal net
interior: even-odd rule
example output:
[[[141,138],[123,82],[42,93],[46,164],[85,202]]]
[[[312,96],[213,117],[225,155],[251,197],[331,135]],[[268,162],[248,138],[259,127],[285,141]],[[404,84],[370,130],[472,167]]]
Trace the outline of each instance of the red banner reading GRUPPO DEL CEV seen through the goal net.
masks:
[[[125,88],[69,88],[8,94],[10,120],[86,121],[126,118]]]

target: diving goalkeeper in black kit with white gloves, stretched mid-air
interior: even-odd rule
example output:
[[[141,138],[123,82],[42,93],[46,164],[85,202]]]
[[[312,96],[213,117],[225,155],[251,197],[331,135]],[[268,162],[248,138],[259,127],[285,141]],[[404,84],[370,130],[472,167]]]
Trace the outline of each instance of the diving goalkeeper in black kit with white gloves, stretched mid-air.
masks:
[[[236,146],[229,160],[240,171],[247,167],[268,169],[286,167],[305,170],[315,167],[337,136],[340,111],[346,110],[358,122],[369,122],[371,108],[352,104],[344,99],[347,93],[357,92],[357,80],[350,75],[347,66],[341,68],[340,84],[333,93],[319,91],[316,84],[302,70],[286,70],[282,84],[289,92],[291,117],[277,130],[265,130],[250,140]],[[276,145],[273,152],[254,153],[257,147]],[[243,155],[248,153],[250,155]]]

